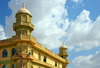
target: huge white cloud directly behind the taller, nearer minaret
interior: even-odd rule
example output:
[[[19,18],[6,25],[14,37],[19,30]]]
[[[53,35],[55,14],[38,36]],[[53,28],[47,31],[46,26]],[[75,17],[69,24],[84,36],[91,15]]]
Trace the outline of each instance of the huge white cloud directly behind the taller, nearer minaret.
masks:
[[[69,24],[65,23],[66,26],[63,30],[60,28],[60,24],[64,23],[61,16],[67,16],[67,10],[64,9],[66,0],[11,0],[9,7],[12,10],[12,14],[10,17],[6,16],[5,26],[8,38],[15,35],[12,26],[15,22],[16,12],[22,7],[22,2],[25,2],[26,8],[33,16],[32,24],[35,25],[35,30],[32,35],[37,39],[37,42],[49,49],[60,47],[62,42],[59,38],[65,34],[64,30],[67,29]]]

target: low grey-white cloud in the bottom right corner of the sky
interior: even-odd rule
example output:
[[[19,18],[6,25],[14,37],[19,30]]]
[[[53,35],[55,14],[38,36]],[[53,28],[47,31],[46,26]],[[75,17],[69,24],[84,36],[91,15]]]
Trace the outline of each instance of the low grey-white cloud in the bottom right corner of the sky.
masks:
[[[100,50],[95,55],[75,57],[72,63],[76,68],[100,68]]]

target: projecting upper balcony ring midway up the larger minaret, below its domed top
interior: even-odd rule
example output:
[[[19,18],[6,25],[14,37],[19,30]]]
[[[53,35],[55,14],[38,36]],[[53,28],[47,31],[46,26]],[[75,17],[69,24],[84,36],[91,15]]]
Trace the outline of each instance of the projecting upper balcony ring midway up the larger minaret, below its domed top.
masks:
[[[19,28],[19,27],[26,27],[26,28],[31,29],[31,31],[34,30],[34,25],[32,25],[29,22],[16,22],[16,23],[13,23],[13,30],[14,31],[16,31],[16,28]]]

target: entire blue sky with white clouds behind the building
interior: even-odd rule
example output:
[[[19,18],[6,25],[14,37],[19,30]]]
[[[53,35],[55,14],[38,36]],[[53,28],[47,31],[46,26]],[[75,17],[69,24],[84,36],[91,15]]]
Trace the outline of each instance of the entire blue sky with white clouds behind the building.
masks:
[[[58,54],[64,41],[68,68],[100,68],[99,0],[0,0],[0,40],[15,35],[15,14],[23,2],[37,42]]]

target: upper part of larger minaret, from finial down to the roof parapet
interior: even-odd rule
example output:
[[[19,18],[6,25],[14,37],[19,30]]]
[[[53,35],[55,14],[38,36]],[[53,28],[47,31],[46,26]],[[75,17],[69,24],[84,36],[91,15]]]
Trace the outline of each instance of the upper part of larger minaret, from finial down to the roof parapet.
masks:
[[[30,12],[25,8],[25,3],[23,7],[19,9],[16,13],[16,23],[13,24],[13,30],[16,35],[31,35],[34,30],[34,25],[31,24]]]

